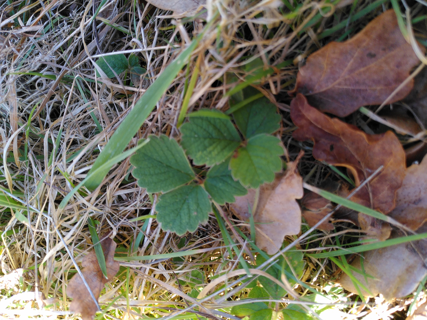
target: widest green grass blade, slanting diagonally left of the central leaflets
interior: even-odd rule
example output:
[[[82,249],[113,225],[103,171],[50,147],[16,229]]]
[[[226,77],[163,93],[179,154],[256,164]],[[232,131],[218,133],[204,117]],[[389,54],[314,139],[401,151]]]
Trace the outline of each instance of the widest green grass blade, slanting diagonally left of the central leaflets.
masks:
[[[200,36],[199,36],[200,37]],[[178,72],[186,63],[188,57],[196,48],[200,38],[192,41],[191,45],[185,49],[171,64],[169,64],[163,73],[154,81],[147,89],[142,97],[137,101],[134,108],[129,112],[120,126],[114,132],[108,143],[103,148],[102,152],[97,157],[93,167],[90,169],[90,179],[85,181],[85,186],[89,190],[95,189],[102,182],[103,178],[108,174],[111,167],[105,167],[109,159],[123,152],[123,150],[131,141],[132,137],[139,130],[145,119],[153,111],[157,101],[166,92],[169,85],[175,79]],[[99,170],[99,168],[104,168]],[[96,171],[96,175],[93,173]]]

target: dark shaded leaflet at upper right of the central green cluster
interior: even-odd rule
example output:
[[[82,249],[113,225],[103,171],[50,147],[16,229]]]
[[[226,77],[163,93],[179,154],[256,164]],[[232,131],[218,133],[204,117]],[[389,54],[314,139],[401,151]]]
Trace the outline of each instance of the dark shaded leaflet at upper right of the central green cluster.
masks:
[[[280,128],[280,115],[267,98],[255,100],[233,113],[240,132],[250,138],[260,133],[273,133]]]

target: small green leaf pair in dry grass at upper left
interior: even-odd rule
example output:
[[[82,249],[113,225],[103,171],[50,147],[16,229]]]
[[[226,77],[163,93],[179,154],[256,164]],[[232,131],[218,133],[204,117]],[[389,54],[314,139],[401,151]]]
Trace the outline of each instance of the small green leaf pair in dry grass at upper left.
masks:
[[[131,74],[131,80],[133,83],[139,81],[140,75],[143,75],[147,70],[141,68],[139,59],[136,55],[132,54],[129,59],[126,59],[124,54],[111,55],[100,57],[96,61],[96,65],[105,73],[105,75],[111,79],[116,75],[128,70]],[[116,73],[116,75],[115,75]],[[96,70],[96,76],[100,77],[99,72]]]

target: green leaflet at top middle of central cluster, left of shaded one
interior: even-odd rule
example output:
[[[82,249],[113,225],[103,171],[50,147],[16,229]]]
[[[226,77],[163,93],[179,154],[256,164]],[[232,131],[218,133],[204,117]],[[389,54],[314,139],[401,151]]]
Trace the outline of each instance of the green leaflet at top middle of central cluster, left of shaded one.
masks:
[[[181,145],[196,166],[219,164],[228,158],[241,142],[236,128],[227,119],[195,117],[184,123],[180,130]]]

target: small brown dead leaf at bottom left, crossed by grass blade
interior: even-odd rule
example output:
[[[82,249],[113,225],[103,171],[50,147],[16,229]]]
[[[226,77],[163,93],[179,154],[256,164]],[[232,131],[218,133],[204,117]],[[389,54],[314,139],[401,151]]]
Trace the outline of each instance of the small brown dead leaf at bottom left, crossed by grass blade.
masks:
[[[105,238],[101,241],[101,247],[105,257],[108,279],[105,279],[102,274],[95,250],[90,251],[81,262],[81,266],[83,267],[81,272],[96,299],[98,299],[99,293],[104,288],[105,283],[113,279],[120,267],[119,262],[114,261],[116,243],[110,238]],[[68,282],[67,294],[73,298],[70,310],[80,312],[83,320],[92,320],[97,311],[96,305],[78,273]]]

